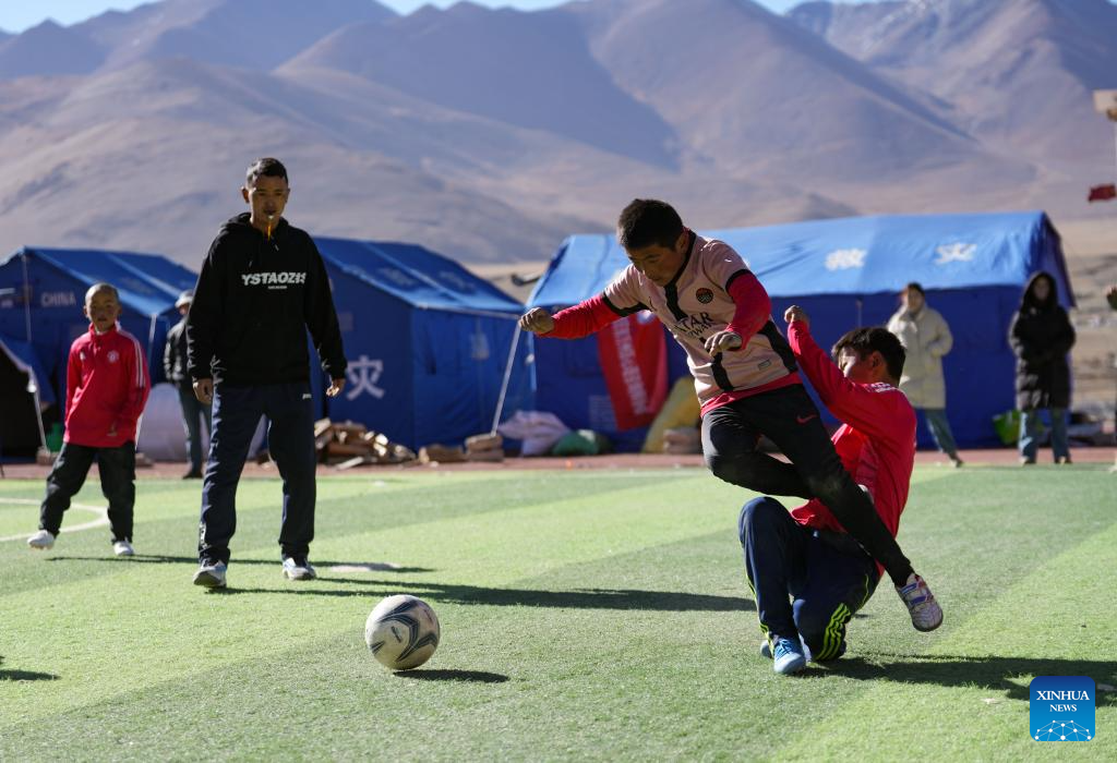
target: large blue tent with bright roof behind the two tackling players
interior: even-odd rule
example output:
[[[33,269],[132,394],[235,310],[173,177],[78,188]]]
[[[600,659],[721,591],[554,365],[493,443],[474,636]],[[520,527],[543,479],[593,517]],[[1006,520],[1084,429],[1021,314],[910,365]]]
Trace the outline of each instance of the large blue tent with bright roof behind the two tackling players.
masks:
[[[1014,356],[1008,329],[1028,278],[1052,273],[1059,300],[1073,305],[1059,234],[1042,212],[847,218],[707,231],[746,260],[772,297],[776,325],[787,306],[802,306],[822,346],[859,325],[882,325],[897,292],[918,281],[927,302],[954,334],[944,367],[947,413],[963,446],[996,444],[991,418],[1014,405]],[[563,242],[532,293],[529,307],[574,305],[602,290],[626,264],[610,235]],[[671,378],[685,374],[672,345]],[[536,406],[572,427],[591,427],[639,445],[642,432],[615,433],[596,342],[537,340]],[[920,444],[929,444],[920,426]]]

